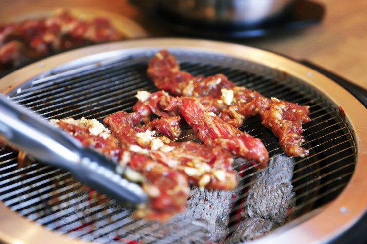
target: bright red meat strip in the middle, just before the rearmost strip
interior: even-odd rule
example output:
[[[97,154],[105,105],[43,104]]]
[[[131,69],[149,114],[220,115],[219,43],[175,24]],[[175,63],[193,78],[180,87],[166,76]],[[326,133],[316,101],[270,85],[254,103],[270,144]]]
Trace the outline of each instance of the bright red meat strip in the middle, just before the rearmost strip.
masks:
[[[219,146],[234,156],[256,160],[261,168],[266,166],[269,155],[260,139],[255,139],[225,123],[213,112],[205,109],[196,98],[172,97],[166,92],[158,91],[144,99],[140,97],[133,110],[145,116],[160,115],[161,120],[169,116],[168,112],[175,117],[179,114],[205,145]]]

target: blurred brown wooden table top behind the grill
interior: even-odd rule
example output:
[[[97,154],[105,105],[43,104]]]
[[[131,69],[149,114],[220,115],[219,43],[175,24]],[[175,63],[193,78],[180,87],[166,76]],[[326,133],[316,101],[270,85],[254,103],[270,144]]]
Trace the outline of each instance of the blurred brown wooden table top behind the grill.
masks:
[[[301,32],[238,42],[306,59],[367,88],[367,1],[314,0],[325,7],[321,23]],[[121,14],[139,23],[149,36],[166,31],[128,0],[0,0],[0,21],[9,16],[57,7],[88,7]]]

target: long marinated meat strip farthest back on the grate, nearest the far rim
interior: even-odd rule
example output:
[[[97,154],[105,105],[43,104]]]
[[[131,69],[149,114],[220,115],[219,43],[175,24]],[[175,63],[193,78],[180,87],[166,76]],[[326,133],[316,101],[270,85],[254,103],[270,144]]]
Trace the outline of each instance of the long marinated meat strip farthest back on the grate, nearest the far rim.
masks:
[[[176,58],[162,50],[151,59],[147,73],[160,90],[174,96],[196,97],[223,121],[239,128],[246,118],[259,115],[262,124],[279,138],[288,156],[305,157],[302,124],[309,122],[307,106],[266,98],[256,91],[236,86],[223,74],[193,76],[180,70]]]

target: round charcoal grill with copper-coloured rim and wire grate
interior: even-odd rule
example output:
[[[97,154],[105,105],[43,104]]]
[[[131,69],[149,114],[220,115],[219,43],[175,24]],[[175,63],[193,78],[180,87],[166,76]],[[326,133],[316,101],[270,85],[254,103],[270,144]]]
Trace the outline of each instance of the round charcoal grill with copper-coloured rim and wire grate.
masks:
[[[141,39],[84,47],[15,70],[0,91],[47,119],[97,118],[131,111],[138,90],[156,90],[146,75],[155,52],[168,49],[182,70],[224,73],[239,86],[267,97],[310,106],[304,125],[306,158],[292,160],[292,219],[254,243],[324,243],[349,231],[367,210],[363,190],[367,154],[366,108],[325,75],[298,62],[242,45],[193,39]],[[285,156],[257,118],[243,128],[260,138],[271,158]],[[190,131],[185,139],[195,140]],[[131,217],[131,209],[38,162],[19,167],[18,153],[0,151],[0,240],[4,243],[208,243],[203,219],[178,214],[166,223]],[[221,199],[231,206],[227,235],[235,231],[246,189],[259,171],[235,160],[239,186]],[[246,167],[244,167],[246,166]],[[286,169],[281,169],[286,170]],[[228,196],[228,195],[227,195]],[[240,204],[241,203],[241,204]]]

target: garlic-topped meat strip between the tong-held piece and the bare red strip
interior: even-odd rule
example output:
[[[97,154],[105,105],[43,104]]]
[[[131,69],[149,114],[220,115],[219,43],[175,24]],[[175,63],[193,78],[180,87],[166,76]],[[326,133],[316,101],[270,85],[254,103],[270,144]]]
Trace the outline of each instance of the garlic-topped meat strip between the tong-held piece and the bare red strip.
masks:
[[[236,186],[233,157],[228,151],[192,141],[173,142],[165,136],[154,137],[154,132],[146,129],[149,127],[137,127],[143,119],[137,112],[119,111],[106,117],[104,123],[126,150],[144,154],[171,171],[185,175],[192,185],[209,190],[232,190]]]

